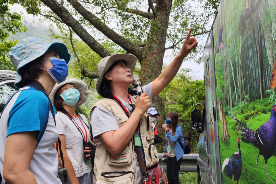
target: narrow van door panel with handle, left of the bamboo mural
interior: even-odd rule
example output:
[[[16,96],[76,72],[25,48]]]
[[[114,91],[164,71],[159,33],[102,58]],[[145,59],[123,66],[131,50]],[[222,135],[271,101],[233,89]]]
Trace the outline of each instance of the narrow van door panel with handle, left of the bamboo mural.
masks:
[[[213,31],[204,50],[206,133],[208,141],[209,183],[221,183],[218,125],[216,118],[216,82],[214,72]]]

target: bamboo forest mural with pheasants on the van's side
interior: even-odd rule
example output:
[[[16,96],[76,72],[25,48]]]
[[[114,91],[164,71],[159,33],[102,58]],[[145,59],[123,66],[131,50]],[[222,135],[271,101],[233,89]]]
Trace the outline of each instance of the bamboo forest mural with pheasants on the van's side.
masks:
[[[276,0],[222,0],[214,57],[222,182],[276,184]]]

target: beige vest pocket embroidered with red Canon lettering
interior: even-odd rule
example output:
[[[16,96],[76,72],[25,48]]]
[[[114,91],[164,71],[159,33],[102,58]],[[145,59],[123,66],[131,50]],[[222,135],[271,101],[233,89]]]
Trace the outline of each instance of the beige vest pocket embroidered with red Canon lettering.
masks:
[[[109,153],[108,157],[108,163],[114,166],[129,165],[132,160],[132,141],[120,153],[116,155]]]

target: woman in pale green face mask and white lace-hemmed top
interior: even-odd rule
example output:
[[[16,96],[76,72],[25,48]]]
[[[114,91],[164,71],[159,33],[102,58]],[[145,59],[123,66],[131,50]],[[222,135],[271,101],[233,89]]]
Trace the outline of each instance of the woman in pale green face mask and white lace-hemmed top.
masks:
[[[63,158],[71,184],[90,184],[92,182],[91,162],[89,160],[88,122],[76,108],[87,100],[89,94],[85,82],[67,78],[55,85],[49,95],[57,109],[56,124],[60,133]],[[59,159],[60,166],[62,165]]]

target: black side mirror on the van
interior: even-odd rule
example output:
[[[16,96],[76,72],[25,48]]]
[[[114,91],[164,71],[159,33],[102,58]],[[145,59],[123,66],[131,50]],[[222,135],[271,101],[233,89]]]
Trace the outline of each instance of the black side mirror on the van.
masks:
[[[198,105],[204,105],[204,103],[200,103],[200,104],[196,104],[196,107]],[[203,122],[202,122],[202,118],[204,118],[201,114],[201,111],[198,109],[195,109],[191,111],[191,124],[192,124],[192,129],[193,130],[197,130],[199,133],[202,132],[202,126],[203,126]],[[204,110],[203,109],[203,114],[204,114]]]

